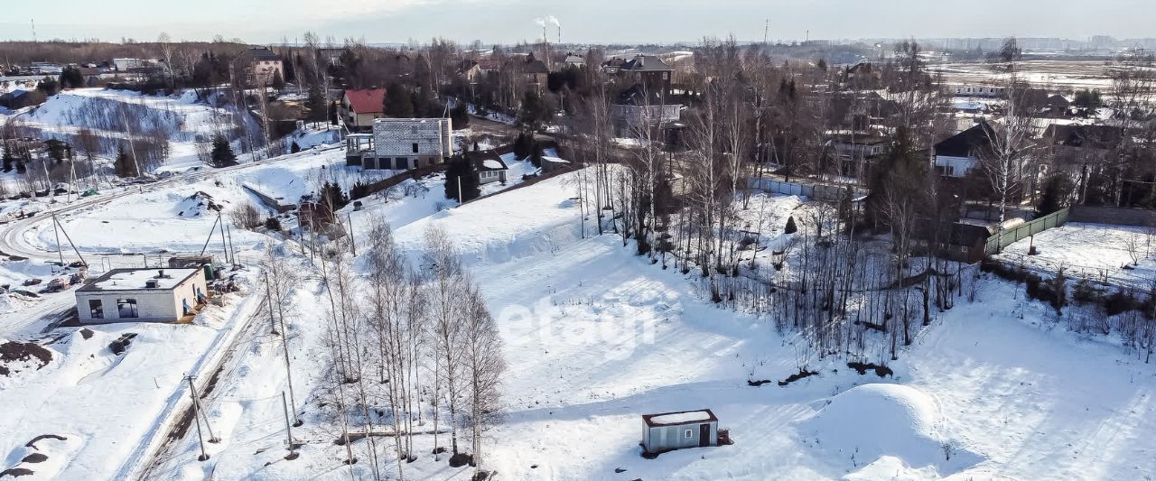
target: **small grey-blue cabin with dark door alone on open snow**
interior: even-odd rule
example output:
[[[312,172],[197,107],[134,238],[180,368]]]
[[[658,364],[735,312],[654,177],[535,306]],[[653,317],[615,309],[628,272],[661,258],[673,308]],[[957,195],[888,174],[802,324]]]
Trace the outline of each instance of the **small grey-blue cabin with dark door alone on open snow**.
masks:
[[[719,419],[710,409],[643,416],[643,451],[659,454],[719,444]]]

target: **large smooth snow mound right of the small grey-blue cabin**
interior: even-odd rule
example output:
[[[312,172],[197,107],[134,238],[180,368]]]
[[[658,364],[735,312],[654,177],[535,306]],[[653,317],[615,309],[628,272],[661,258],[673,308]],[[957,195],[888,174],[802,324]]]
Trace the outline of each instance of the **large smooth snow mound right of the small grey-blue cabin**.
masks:
[[[943,421],[939,402],[918,388],[866,384],[831,398],[802,431],[840,462],[862,466],[859,475],[903,465],[910,479],[934,479],[980,460],[942,432]]]

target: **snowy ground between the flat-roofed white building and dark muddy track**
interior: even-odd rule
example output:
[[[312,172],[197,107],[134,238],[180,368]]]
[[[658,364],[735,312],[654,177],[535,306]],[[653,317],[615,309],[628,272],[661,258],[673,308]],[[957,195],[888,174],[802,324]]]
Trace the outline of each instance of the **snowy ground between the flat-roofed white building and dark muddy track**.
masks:
[[[243,278],[244,279],[244,278]],[[119,479],[143,446],[161,439],[170,414],[188,397],[186,373],[212,375],[213,360],[253,313],[259,297],[227,294],[193,324],[112,324],[65,328],[39,343],[43,365],[0,376],[0,454],[6,466],[37,436],[60,436],[62,447],[24,464],[29,479]],[[111,343],[132,336],[117,354]],[[0,345],[5,342],[0,339]],[[52,443],[52,442],[50,442]]]

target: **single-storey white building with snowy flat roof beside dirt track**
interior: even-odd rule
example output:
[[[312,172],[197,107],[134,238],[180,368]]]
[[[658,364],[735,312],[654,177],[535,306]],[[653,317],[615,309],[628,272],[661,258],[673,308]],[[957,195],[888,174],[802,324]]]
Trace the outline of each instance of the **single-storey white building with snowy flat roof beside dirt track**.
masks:
[[[81,324],[172,323],[208,301],[203,268],[112,269],[76,290]]]

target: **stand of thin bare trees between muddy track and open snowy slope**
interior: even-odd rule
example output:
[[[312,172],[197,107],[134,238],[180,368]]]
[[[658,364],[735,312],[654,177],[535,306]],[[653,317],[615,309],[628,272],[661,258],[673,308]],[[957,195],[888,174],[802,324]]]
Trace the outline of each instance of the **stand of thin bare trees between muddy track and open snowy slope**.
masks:
[[[449,451],[451,464],[482,472],[505,369],[484,298],[437,228],[416,264],[383,217],[361,238],[356,269],[341,242],[319,256],[328,303],[325,413],[341,428],[347,462],[366,461],[373,479],[405,479],[406,465],[425,454],[415,437],[431,436],[435,458]],[[280,299],[283,289],[273,284]]]

